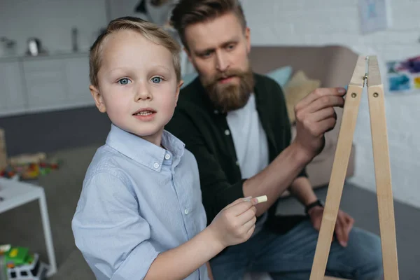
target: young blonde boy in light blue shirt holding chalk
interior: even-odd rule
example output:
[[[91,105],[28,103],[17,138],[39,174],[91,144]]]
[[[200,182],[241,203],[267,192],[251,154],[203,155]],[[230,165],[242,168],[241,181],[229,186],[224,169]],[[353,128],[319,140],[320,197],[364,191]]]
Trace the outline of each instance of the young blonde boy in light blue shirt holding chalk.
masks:
[[[197,162],[165,125],[182,85],[180,47],[136,18],[110,22],[90,51],[90,92],[111,119],[72,221],[97,279],[207,279],[206,264],[251,237],[256,198],[206,228]]]

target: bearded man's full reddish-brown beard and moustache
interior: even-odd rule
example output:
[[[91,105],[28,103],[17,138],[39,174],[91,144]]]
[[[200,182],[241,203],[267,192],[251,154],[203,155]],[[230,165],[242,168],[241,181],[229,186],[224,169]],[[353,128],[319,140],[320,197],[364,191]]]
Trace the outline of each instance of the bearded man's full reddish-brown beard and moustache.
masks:
[[[239,85],[236,83],[218,83],[221,78],[235,76],[239,78]],[[251,67],[246,71],[228,70],[218,73],[211,80],[202,80],[203,86],[209,94],[214,106],[223,112],[241,109],[248,102],[253,92],[254,80]]]

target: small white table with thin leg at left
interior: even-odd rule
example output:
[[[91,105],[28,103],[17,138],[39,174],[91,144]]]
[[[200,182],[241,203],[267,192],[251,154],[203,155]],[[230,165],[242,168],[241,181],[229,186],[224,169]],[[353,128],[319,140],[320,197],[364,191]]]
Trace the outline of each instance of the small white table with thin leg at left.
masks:
[[[43,188],[30,183],[0,178],[0,197],[3,197],[3,200],[0,201],[0,214],[34,200],[39,201],[48,262],[50,262],[47,276],[50,277],[55,274],[57,272],[57,263],[55,262],[50,219],[48,218],[48,209]]]

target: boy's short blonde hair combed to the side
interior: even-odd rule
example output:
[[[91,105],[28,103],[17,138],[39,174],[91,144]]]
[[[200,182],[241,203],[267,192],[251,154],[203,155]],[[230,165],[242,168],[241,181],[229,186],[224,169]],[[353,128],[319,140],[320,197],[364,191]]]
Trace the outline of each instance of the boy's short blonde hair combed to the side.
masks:
[[[148,22],[146,20],[141,20],[140,18],[134,17],[123,17],[117,18],[109,22],[106,30],[98,36],[97,40],[93,43],[92,48],[90,48],[89,55],[89,78],[90,83],[95,87],[98,86],[98,72],[101,68],[101,52],[102,45],[110,34],[113,34],[121,30],[132,30],[136,31],[144,38],[150,40],[151,42],[162,45],[167,50],[172,53],[172,60],[174,62],[174,69],[176,73],[176,80],[181,80],[181,62],[179,59],[179,52],[181,51],[181,46],[177,43],[172,36],[167,33],[164,29],[160,28],[158,25]],[[141,50],[139,50],[141,51]]]

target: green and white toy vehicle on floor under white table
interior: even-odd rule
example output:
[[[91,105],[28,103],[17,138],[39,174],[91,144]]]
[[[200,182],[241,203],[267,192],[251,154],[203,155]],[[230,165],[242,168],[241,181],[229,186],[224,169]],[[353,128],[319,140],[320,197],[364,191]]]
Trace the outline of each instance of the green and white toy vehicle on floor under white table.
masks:
[[[20,246],[0,246],[0,255],[4,255],[8,280],[43,280],[48,267],[39,260],[37,253]]]

